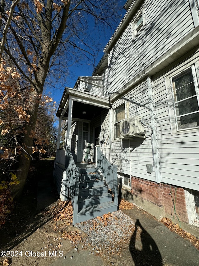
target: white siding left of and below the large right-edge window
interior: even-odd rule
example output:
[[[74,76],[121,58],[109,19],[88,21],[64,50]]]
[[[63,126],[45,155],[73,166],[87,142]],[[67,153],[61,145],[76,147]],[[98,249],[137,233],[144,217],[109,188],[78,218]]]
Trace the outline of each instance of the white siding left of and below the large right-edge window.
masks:
[[[162,182],[199,190],[198,130],[195,133],[187,130],[173,134],[171,121],[174,119],[169,117],[169,96],[166,94],[164,76],[156,78],[153,86]]]

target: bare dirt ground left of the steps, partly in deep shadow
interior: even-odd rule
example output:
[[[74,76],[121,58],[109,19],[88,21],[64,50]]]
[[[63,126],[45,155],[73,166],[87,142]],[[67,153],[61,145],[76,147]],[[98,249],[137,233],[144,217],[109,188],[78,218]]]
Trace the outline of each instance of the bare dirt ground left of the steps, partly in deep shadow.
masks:
[[[47,266],[62,253],[72,249],[70,241],[63,239],[62,247],[58,241],[59,232],[53,230],[55,222],[50,207],[37,211],[37,182],[42,175],[49,174],[52,182],[54,160],[39,160],[32,164],[22,196],[14,205],[14,211],[0,230],[0,250],[7,252],[10,265]],[[52,191],[54,204],[58,200],[56,191]],[[57,197],[57,198],[56,198]],[[53,204],[52,204],[53,205]],[[39,254],[31,254],[37,250]],[[59,253],[60,252],[60,253]],[[45,256],[48,254],[48,256]],[[2,256],[4,255],[1,254]],[[10,256],[10,257],[8,257]],[[0,263],[5,258],[0,258]],[[0,264],[1,265],[1,264]]]

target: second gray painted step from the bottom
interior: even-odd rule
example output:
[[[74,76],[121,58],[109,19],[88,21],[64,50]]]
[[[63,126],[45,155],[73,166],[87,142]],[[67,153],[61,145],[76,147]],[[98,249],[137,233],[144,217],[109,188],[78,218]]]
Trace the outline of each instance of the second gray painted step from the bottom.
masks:
[[[105,203],[108,201],[112,201],[112,194],[108,192],[105,192],[103,194],[100,193],[99,195],[92,195],[92,196],[84,197],[84,198],[79,199],[78,211],[82,208],[93,206],[96,204]]]

